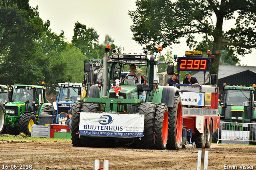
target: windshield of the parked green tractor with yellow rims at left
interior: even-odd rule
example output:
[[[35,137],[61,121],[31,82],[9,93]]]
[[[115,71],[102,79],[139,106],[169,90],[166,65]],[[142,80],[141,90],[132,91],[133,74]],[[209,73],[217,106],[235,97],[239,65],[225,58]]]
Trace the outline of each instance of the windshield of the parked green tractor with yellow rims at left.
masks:
[[[23,101],[23,102],[33,102],[33,89],[29,88],[13,88],[12,89],[12,102],[13,101]]]

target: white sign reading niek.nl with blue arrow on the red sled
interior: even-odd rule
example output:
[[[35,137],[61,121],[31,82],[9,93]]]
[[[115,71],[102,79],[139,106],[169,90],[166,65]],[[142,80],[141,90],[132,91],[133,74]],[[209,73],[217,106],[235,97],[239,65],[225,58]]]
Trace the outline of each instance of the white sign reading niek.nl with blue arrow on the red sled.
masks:
[[[191,106],[204,106],[204,93],[197,92],[180,92],[181,103],[182,105],[191,105]]]

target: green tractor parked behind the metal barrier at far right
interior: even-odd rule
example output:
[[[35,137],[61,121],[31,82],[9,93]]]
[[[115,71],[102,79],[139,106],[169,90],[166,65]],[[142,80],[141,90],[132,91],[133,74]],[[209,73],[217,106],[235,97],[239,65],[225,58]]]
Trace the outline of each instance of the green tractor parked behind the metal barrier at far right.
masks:
[[[222,130],[232,134],[232,131],[241,131],[240,136],[248,136],[250,144],[256,144],[256,111],[254,103],[255,84],[250,87],[230,86],[224,83],[219,106],[220,125],[213,134],[213,141],[218,142],[222,138]],[[243,124],[245,123],[245,124]],[[249,123],[249,124],[247,124]],[[246,133],[243,134],[242,133]],[[249,136],[250,135],[250,136]],[[236,137],[234,137],[236,136]],[[238,134],[230,136],[230,139],[238,139]],[[221,142],[220,140],[219,142]],[[239,139],[238,139],[239,140]]]

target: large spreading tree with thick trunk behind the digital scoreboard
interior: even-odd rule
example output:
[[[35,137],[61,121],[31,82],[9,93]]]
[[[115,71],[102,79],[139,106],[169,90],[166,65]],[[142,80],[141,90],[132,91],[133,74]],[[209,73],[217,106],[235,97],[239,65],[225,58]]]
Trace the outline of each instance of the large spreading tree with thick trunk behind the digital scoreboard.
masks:
[[[182,37],[190,48],[211,47],[215,60],[210,73],[218,74],[222,49],[244,56],[256,47],[255,0],[136,0],[136,5],[129,11],[134,40],[151,50],[179,43]],[[228,20],[235,20],[235,28],[224,31]],[[198,34],[202,42],[197,41]]]

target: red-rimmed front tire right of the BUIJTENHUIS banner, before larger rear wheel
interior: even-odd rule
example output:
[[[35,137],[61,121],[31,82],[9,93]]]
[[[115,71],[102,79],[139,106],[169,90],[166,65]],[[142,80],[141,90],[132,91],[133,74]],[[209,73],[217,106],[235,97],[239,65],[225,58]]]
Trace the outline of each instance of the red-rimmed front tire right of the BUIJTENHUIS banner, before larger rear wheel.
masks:
[[[168,136],[168,107],[160,103],[155,117],[155,149],[165,150]]]

